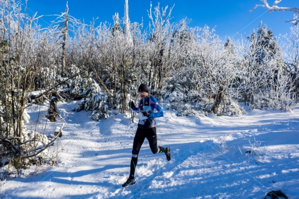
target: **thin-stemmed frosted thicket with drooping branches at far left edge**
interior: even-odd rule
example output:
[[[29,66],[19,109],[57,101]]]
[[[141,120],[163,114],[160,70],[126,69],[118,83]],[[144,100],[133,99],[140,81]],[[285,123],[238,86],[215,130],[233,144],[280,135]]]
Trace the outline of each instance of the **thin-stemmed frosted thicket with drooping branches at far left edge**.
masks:
[[[52,48],[47,49],[47,45],[52,37],[41,33],[33,23],[38,17],[21,12],[19,1],[0,1],[0,13],[0,161],[21,168],[57,138],[48,140],[42,133],[29,133],[25,126],[30,118],[26,107],[32,92],[42,83],[37,79],[51,54]]]

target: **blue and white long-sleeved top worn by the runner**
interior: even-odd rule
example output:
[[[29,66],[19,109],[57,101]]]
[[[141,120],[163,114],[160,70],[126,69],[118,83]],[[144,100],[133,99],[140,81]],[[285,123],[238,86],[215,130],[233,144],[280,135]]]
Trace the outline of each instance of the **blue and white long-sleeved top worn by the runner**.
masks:
[[[132,110],[139,114],[138,128],[153,128],[156,126],[154,120],[155,117],[162,117],[164,115],[163,110],[158,103],[157,99],[153,96],[146,96],[141,99],[137,107],[132,107]],[[142,110],[147,111],[150,116],[143,116]]]

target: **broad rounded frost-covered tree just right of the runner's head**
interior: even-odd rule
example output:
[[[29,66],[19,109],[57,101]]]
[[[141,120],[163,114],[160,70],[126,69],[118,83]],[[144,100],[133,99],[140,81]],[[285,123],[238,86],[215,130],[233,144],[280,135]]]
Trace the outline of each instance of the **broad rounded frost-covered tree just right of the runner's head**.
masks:
[[[195,109],[226,114],[225,104],[231,104],[235,96],[231,85],[236,54],[225,47],[213,29],[189,28],[184,22],[173,34],[173,67],[165,98],[169,96],[168,102],[176,103],[177,108],[191,103]],[[217,108],[220,103],[221,108]]]

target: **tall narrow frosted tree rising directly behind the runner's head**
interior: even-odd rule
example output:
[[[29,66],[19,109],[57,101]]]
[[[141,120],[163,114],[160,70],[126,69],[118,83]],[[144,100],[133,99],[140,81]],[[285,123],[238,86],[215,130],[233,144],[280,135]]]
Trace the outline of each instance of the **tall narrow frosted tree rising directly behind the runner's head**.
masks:
[[[162,89],[165,79],[170,71],[171,59],[171,37],[172,37],[172,24],[171,11],[168,11],[168,6],[160,9],[160,4],[153,8],[150,5],[148,16],[149,23],[149,38],[147,42],[147,50],[149,56],[149,63],[143,67],[146,77],[145,82],[148,83],[151,89]]]

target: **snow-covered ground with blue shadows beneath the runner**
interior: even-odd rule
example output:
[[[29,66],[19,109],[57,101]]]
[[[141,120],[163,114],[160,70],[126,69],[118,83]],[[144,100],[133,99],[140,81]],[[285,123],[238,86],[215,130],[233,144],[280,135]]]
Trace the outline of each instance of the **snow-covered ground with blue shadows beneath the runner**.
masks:
[[[245,115],[232,117],[165,110],[156,119],[158,145],[171,148],[172,160],[152,154],[145,141],[136,184],[123,188],[137,118],[132,123],[130,114],[118,114],[97,122],[91,112],[72,112],[76,103],[58,103],[66,121],[58,147],[51,147],[58,164],[0,182],[0,198],[264,198],[274,190],[299,198],[299,107],[291,113],[245,107]],[[35,129],[38,110],[28,110],[27,129]],[[38,120],[39,128],[45,125],[45,117]],[[53,133],[62,123],[47,125]]]

